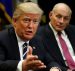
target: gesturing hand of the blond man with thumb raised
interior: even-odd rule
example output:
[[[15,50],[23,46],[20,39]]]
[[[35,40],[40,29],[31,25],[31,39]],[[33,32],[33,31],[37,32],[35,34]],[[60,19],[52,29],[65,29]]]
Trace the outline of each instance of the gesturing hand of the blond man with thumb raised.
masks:
[[[41,69],[46,68],[44,63],[38,59],[38,56],[32,55],[32,47],[28,47],[29,52],[27,53],[26,59],[22,63],[22,70],[35,70],[35,69]]]

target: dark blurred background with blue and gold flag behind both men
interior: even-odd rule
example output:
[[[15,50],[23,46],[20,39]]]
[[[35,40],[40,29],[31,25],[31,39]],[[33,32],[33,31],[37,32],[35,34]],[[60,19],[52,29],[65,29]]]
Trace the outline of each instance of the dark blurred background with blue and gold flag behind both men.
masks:
[[[26,1],[38,3],[38,5],[44,11],[44,15],[42,16],[40,23],[41,26],[46,25],[49,22],[48,14],[52,10],[53,6],[59,2],[64,2],[70,6],[73,12],[70,24],[75,25],[74,0],[0,0],[0,30],[8,28],[8,26],[11,24],[13,11],[16,5]]]

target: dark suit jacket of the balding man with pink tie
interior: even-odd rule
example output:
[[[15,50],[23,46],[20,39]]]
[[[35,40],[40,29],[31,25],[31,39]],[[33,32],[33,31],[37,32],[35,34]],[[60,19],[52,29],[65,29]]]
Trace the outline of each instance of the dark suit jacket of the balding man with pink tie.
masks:
[[[72,25],[69,25],[65,32],[68,35],[68,38],[72,44],[73,50],[75,52],[75,27]],[[38,30],[38,33],[43,41],[44,47],[49,52],[49,54],[54,58],[54,60],[62,67],[63,71],[66,71],[68,67],[65,64],[65,61],[62,57],[62,54],[60,52],[60,49],[58,47],[57,41],[55,39],[55,36],[53,34],[53,31],[51,30],[49,25],[46,25],[44,27],[41,27]]]

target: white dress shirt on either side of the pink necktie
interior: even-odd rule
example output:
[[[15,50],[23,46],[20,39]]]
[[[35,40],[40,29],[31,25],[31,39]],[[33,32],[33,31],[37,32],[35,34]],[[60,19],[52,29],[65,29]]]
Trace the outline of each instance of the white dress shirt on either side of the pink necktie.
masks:
[[[53,33],[54,33],[54,36],[55,36],[56,41],[57,41],[57,43],[58,43],[59,49],[60,49],[61,54],[62,54],[62,56],[63,56],[63,58],[64,58],[64,60],[65,60],[65,63],[66,63],[66,59],[65,59],[65,57],[64,57],[64,54],[63,54],[63,51],[62,51],[62,48],[61,48],[61,44],[60,44],[60,42],[59,42],[57,32],[54,30],[54,28],[52,27],[51,23],[49,23],[49,25],[50,25],[50,27],[51,27]],[[61,31],[61,32],[62,32],[61,37],[62,37],[62,38],[64,39],[64,41],[66,42],[66,44],[67,44],[67,46],[68,46],[68,50],[69,50],[69,52],[70,52],[70,54],[71,54],[73,60],[75,61],[75,54],[74,54],[72,45],[71,45],[71,43],[70,43],[70,41],[69,41],[69,38],[68,38],[68,36],[67,36],[67,34],[65,33],[64,30]],[[66,64],[67,64],[67,63],[66,63]]]

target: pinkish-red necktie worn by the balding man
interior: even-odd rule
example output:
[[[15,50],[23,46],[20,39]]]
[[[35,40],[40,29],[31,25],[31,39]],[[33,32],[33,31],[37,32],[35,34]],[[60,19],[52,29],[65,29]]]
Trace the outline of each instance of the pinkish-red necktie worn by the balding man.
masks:
[[[63,50],[63,54],[64,54],[64,57],[67,61],[67,64],[69,66],[69,68],[71,70],[75,70],[75,62],[74,60],[72,59],[71,55],[70,55],[70,52],[68,50],[68,47],[66,45],[66,42],[64,41],[64,39],[61,37],[61,34],[58,34],[58,39],[59,39],[59,42],[61,44],[61,48]]]

